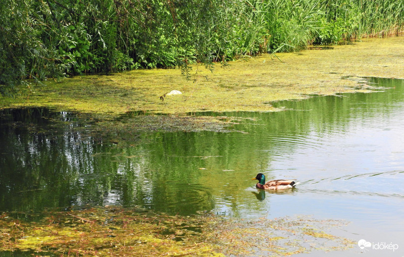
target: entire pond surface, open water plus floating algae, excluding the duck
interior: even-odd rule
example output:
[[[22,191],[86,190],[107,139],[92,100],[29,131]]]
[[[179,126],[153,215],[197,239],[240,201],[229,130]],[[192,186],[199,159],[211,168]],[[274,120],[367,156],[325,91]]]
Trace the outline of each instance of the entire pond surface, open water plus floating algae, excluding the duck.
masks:
[[[349,249],[343,254],[356,256],[362,239],[395,245],[403,87],[361,78],[403,78],[403,41],[317,47],[278,55],[281,61],[266,55],[201,70],[188,82],[178,70],[75,77],[2,98],[2,109],[78,114],[0,114],[0,251],[284,256]],[[236,118],[189,113],[276,111],[277,100],[372,92],[377,84],[390,89],[288,102],[305,112],[240,113],[237,119],[254,121],[234,126],[244,134],[133,133],[221,131],[220,121]],[[173,89],[182,94],[160,98]],[[292,191],[256,191],[250,178],[259,172],[301,183]],[[386,199],[392,211],[380,212]]]

